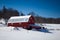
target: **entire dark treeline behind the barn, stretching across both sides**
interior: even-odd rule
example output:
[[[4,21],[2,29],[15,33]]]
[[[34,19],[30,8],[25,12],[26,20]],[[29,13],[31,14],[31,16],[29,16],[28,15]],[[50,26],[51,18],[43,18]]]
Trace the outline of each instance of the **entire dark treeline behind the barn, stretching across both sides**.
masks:
[[[60,18],[45,18],[45,17],[41,17],[41,16],[36,15],[34,12],[30,12],[27,15],[34,16],[36,23],[57,23],[57,24],[60,24]],[[4,18],[4,19],[8,20],[11,16],[24,16],[24,13],[18,12],[17,10],[14,10],[12,8],[7,9],[5,6],[3,6],[3,9],[0,10],[0,19]]]

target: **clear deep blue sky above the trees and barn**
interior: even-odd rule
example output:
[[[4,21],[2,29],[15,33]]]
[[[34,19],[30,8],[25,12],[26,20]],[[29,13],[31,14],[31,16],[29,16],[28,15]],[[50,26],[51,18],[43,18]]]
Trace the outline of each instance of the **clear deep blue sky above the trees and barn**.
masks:
[[[42,17],[60,18],[60,0],[0,0],[0,9],[3,5],[26,15],[33,11]]]

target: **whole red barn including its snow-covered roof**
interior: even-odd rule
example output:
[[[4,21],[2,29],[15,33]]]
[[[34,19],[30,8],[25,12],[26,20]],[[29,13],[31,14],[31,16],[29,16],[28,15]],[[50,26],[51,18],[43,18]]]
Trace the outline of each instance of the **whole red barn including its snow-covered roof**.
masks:
[[[8,26],[23,27],[23,28],[29,28],[29,25],[31,24],[35,24],[34,17],[31,15],[14,16],[11,17],[7,23]]]

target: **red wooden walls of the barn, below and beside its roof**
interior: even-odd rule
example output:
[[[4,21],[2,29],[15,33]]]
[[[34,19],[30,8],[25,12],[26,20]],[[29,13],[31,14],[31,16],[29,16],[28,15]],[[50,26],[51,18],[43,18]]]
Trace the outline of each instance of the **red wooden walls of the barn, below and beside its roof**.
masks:
[[[8,23],[8,26],[28,27],[30,24],[34,24],[34,23],[35,23],[34,17],[31,16],[28,22]]]

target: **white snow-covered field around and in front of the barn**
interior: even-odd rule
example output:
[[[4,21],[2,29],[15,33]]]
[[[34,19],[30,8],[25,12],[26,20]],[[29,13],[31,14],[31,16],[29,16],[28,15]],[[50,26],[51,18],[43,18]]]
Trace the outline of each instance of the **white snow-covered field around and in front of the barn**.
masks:
[[[60,24],[43,24],[46,31],[26,30],[0,24],[0,40],[60,40]]]

